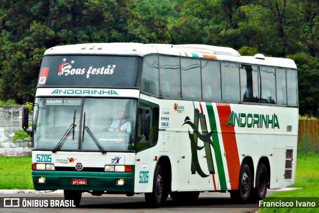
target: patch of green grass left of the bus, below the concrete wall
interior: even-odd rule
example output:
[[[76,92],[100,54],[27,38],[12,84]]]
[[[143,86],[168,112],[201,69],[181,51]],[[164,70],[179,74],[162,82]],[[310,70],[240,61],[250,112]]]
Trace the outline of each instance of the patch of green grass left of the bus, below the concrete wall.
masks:
[[[0,156],[0,189],[33,189],[31,164],[31,156]]]

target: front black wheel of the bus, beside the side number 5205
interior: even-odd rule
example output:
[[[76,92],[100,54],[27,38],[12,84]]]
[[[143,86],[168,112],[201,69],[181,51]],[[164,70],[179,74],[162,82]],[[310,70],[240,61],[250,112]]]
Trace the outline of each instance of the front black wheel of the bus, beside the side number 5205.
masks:
[[[168,187],[164,185],[166,183],[164,177],[160,164],[158,164],[154,172],[153,192],[145,193],[145,201],[151,208],[159,207],[168,197],[169,192]]]

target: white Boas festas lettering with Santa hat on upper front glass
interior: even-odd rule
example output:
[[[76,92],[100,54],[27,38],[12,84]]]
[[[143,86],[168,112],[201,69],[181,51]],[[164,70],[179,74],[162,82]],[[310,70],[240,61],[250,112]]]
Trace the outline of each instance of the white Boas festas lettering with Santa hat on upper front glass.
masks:
[[[71,63],[71,64],[70,64]],[[71,60],[68,63],[66,58],[63,58],[63,62],[59,65],[58,75],[84,75],[89,78],[91,75],[112,75],[115,71],[116,64],[108,64],[102,67],[76,67],[75,60]]]

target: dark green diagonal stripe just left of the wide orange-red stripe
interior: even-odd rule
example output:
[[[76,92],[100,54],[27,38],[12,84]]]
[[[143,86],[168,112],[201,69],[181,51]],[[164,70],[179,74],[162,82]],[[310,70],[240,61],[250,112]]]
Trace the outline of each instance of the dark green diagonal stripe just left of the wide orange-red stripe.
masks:
[[[216,158],[216,164],[217,164],[216,166],[218,171],[220,189],[227,190],[225,171],[224,171],[223,159],[222,159],[220,146],[219,146],[217,127],[216,127],[216,118],[215,118],[213,105],[211,103],[206,103],[206,108],[208,112],[210,130],[214,131],[211,137],[212,137],[212,141],[214,145],[214,153]]]

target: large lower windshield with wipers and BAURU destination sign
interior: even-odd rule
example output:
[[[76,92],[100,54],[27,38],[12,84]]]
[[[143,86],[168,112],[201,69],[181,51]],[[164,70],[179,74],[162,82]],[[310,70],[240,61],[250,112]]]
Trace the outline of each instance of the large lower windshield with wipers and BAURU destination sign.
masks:
[[[36,98],[33,149],[134,151],[137,100]]]

